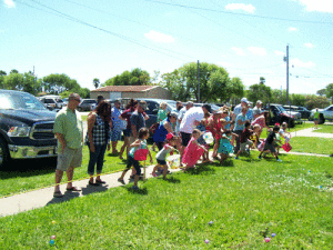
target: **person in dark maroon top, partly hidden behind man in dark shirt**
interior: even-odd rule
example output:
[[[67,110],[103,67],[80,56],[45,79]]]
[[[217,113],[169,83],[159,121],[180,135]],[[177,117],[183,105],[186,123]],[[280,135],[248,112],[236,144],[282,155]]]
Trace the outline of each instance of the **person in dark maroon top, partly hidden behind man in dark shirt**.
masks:
[[[127,121],[127,129],[123,130],[123,144],[120,149],[119,158],[122,158],[123,151],[127,149],[127,156],[129,154],[130,151],[130,137],[131,137],[131,116],[138,108],[138,101],[134,99],[131,99],[129,103],[125,107],[125,111],[123,111],[120,116],[119,119],[125,120]]]

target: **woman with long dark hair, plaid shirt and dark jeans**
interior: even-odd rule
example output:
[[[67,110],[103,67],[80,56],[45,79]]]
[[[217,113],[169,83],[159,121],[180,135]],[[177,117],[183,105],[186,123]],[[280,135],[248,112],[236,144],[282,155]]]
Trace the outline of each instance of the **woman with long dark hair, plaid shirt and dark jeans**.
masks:
[[[111,107],[107,101],[101,101],[94,111],[90,112],[87,118],[87,144],[89,148],[88,174],[90,176],[89,184],[99,186],[105,183],[101,180],[104,154],[108,147],[110,150],[110,123]],[[114,123],[113,123],[114,124]],[[114,126],[113,126],[114,128]],[[93,181],[94,166],[97,166],[97,178]]]

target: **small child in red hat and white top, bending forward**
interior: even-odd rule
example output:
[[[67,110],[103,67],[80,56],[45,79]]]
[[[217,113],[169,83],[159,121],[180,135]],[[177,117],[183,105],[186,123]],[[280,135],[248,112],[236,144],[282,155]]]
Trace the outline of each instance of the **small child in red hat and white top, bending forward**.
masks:
[[[168,164],[167,164],[165,158],[167,158],[168,153],[170,153],[172,150],[174,150],[173,147],[176,144],[178,138],[174,137],[172,133],[168,133],[167,140],[168,140],[168,143],[164,144],[163,148],[157,153],[158,164],[153,168],[153,171],[151,173],[153,177],[158,177],[155,173],[157,170],[159,168],[163,168],[163,179],[164,180],[167,179],[167,173],[168,173]]]

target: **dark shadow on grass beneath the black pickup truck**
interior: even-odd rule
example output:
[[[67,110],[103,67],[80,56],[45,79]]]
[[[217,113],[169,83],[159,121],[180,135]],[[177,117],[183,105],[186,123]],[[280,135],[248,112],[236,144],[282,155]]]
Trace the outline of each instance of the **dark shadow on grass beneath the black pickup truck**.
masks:
[[[7,168],[0,171],[0,180],[43,176],[54,172],[57,158],[11,160]]]

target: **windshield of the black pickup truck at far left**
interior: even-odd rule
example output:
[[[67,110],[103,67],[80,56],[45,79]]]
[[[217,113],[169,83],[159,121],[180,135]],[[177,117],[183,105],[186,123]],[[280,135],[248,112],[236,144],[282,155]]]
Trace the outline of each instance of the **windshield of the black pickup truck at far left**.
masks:
[[[23,92],[0,93],[0,109],[44,110],[43,104],[33,96]]]

